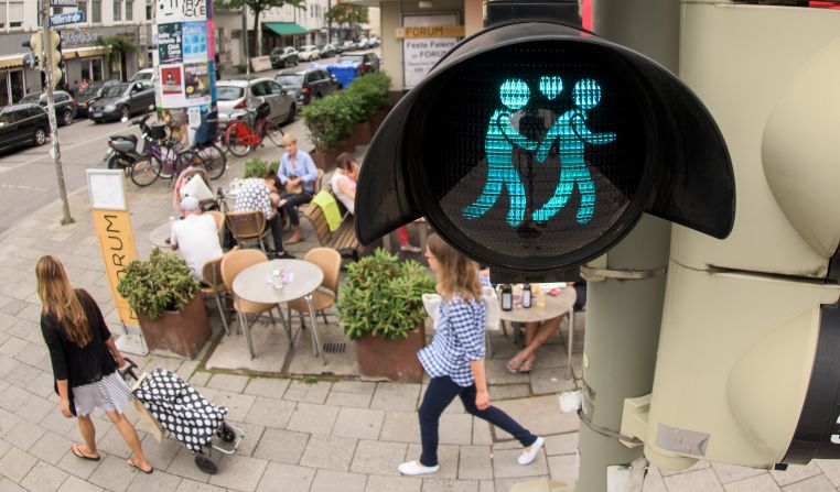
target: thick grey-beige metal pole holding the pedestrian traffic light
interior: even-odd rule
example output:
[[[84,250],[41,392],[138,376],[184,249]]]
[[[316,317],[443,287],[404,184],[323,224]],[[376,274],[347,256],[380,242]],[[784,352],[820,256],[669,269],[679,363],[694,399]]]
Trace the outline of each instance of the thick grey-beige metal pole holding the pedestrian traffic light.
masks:
[[[596,0],[594,31],[677,73],[679,2]],[[583,342],[578,492],[640,491],[640,442],[622,444],[624,400],[653,390],[670,223],[649,215],[610,252],[581,269],[589,278]]]

